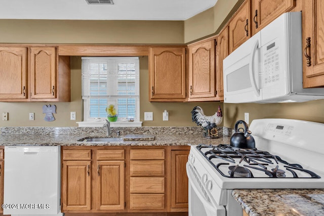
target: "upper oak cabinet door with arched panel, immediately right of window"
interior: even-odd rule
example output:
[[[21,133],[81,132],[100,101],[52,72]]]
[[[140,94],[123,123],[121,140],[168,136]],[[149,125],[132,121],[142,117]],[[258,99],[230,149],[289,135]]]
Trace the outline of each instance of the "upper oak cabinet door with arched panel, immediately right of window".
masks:
[[[185,48],[149,49],[149,101],[184,101]]]

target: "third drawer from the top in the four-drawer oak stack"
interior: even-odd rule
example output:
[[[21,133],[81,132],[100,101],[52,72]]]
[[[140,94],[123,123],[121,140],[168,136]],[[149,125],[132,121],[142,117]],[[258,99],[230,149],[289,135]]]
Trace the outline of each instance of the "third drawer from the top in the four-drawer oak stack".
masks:
[[[164,193],[163,177],[131,177],[131,193]]]

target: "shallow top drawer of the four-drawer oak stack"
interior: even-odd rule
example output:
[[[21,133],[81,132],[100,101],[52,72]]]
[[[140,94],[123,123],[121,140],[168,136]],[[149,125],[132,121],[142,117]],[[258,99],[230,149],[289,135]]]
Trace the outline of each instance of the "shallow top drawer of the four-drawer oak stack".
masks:
[[[164,149],[131,149],[131,160],[164,160]]]

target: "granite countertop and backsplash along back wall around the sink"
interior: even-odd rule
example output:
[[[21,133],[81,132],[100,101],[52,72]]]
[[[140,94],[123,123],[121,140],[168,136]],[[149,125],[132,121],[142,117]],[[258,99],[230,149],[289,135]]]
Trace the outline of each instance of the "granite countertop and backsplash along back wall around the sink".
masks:
[[[117,136],[118,131],[121,132],[120,136]],[[219,129],[220,138],[206,139],[200,127],[113,127],[112,137],[128,139],[109,143],[78,141],[86,137],[106,137],[105,129],[100,127],[2,127],[0,132],[0,146],[169,146],[201,143],[218,145],[228,144],[230,140],[229,136],[222,133],[223,128]],[[134,139],[130,139],[130,134],[133,134]],[[154,140],[139,139],[139,135],[154,137]]]

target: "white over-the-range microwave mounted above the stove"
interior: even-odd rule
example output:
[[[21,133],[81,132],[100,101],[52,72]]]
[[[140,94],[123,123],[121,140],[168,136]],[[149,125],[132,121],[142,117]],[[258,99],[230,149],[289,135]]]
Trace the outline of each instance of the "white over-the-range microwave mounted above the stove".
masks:
[[[324,99],[303,89],[301,12],[282,14],[223,60],[224,103]]]

